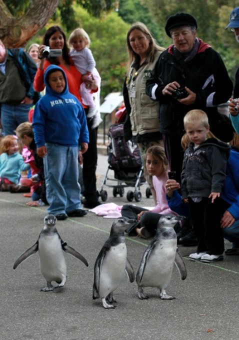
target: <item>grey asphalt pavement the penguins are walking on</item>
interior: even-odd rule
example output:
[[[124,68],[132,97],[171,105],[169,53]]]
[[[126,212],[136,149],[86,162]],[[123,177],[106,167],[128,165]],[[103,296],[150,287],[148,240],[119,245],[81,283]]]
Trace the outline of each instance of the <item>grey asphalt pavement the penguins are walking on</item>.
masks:
[[[99,154],[97,187],[100,190],[107,168],[107,156]],[[109,175],[114,173],[110,170]],[[108,183],[109,181],[106,181]],[[153,206],[145,197],[132,203]],[[112,188],[104,186],[107,201],[128,203],[113,197]],[[25,205],[22,193],[0,192],[0,339],[53,340],[80,339],[177,339],[237,340],[239,338],[239,256],[224,256],[220,262],[201,263],[188,259],[195,247],[179,245],[187,268],[180,279],[174,266],[166,292],[173,300],[160,300],[157,288],[145,288],[148,300],[139,300],[136,283],[127,278],[114,292],[115,309],[104,309],[100,299],[92,300],[93,265],[108,237],[113,219],[86,216],[58,221],[62,239],[86,257],[86,267],[65,254],[67,282],[63,288],[42,292],[45,279],[38,264],[38,253],[22,262],[15,270],[16,258],[37,240],[46,215],[46,207]],[[126,237],[128,258],[136,273],[148,240]],[[225,242],[225,247],[229,243]]]

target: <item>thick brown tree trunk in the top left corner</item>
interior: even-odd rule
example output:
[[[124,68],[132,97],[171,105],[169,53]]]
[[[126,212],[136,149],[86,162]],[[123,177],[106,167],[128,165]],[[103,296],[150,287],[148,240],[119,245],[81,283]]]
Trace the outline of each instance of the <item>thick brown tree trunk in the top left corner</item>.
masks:
[[[13,17],[0,0],[0,39],[6,47],[24,47],[26,42],[48,22],[59,0],[35,0],[19,17]]]

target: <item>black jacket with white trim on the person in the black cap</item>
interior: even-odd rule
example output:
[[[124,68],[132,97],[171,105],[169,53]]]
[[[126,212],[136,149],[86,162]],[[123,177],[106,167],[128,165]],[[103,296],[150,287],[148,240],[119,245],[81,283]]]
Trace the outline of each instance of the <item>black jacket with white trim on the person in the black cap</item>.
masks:
[[[210,130],[213,132],[218,120],[216,105],[226,102],[233,88],[225,65],[220,55],[201,40],[197,53],[188,63],[175,58],[172,46],[161,53],[152,77],[146,82],[146,93],[152,99],[160,101],[159,130],[167,135],[182,136],[184,115],[197,108],[206,112]],[[162,95],[164,86],[172,81],[177,81],[180,86],[187,86],[196,93],[196,100],[192,105],[181,104],[171,95]],[[152,88],[155,84],[157,87],[153,95]]]

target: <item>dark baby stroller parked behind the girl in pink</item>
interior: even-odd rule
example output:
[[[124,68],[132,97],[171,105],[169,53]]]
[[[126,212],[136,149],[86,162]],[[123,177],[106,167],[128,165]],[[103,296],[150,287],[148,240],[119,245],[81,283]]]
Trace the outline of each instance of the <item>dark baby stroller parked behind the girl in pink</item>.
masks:
[[[137,144],[131,140],[125,141],[123,132],[123,123],[112,124],[108,130],[108,168],[103,177],[99,196],[102,201],[107,200],[107,191],[103,186],[113,188],[113,196],[124,194],[124,187],[134,186],[134,191],[127,191],[126,198],[129,202],[135,199],[136,202],[141,200],[140,185],[145,182],[143,176],[143,165],[141,155]],[[108,177],[109,170],[114,171],[114,178]],[[116,185],[107,184],[106,181],[116,181]]]

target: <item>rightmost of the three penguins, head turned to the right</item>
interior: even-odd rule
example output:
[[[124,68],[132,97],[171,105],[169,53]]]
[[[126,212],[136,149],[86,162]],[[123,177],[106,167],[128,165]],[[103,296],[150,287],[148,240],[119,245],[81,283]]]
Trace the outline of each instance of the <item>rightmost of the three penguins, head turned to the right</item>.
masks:
[[[143,292],[143,287],[158,287],[161,299],[174,298],[167,295],[165,291],[171,279],[174,261],[181,279],[186,278],[185,263],[177,251],[177,237],[173,229],[176,222],[184,218],[172,214],[160,217],[156,234],[144,251],[136,274],[140,299],[148,298],[148,295]]]

